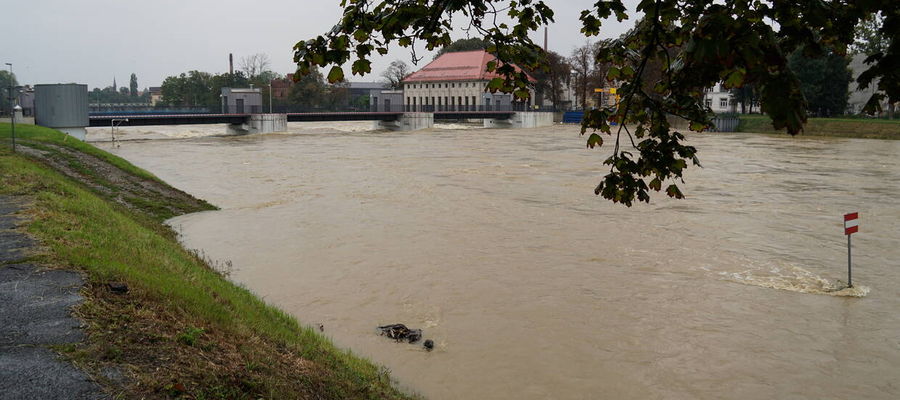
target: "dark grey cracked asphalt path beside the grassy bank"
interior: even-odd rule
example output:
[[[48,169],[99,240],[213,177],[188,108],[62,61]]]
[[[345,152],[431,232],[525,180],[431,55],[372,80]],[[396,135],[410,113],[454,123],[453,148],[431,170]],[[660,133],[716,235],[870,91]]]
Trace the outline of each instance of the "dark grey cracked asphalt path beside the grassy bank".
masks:
[[[19,200],[0,196],[0,398],[103,399],[100,386],[47,346],[82,340],[70,310],[81,277],[19,263],[35,243],[14,229]]]

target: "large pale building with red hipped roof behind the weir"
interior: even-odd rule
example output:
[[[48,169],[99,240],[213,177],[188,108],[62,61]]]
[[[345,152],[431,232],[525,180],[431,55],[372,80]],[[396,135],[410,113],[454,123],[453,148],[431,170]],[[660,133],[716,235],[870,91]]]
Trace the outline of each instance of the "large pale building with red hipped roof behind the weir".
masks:
[[[530,107],[530,99],[513,101],[509,93],[490,93],[488,82],[500,75],[488,72],[487,64],[497,58],[484,50],[445,53],[403,79],[403,100],[410,111],[490,110]],[[517,71],[518,66],[513,65]],[[534,82],[530,75],[528,79]]]

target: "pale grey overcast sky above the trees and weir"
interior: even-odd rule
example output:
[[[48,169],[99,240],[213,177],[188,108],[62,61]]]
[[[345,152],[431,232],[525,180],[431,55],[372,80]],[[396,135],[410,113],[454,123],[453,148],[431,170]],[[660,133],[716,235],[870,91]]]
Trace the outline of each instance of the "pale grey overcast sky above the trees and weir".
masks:
[[[628,1],[628,3],[635,3]],[[128,86],[137,74],[143,89],[189,70],[228,70],[242,56],[265,53],[272,69],[295,69],[292,48],[329,30],[340,17],[339,0],[15,0],[4,2],[0,18],[0,66],[13,63],[20,83],[86,83],[91,88]],[[592,0],[545,0],[556,13],[549,47],[563,55],[585,43],[578,15]],[[633,24],[609,21],[601,37],[615,37]],[[458,22],[462,25],[462,22]],[[458,30],[457,38],[465,37]],[[536,36],[541,36],[536,34]],[[12,40],[10,40],[12,39]],[[543,38],[538,38],[539,43]],[[594,38],[596,40],[596,38]],[[352,81],[378,80],[395,59],[410,61],[397,48],[375,59],[373,74]],[[431,60],[427,55],[425,62]],[[423,63],[420,63],[421,66]],[[416,68],[416,67],[414,67]],[[349,75],[349,71],[347,72]]]

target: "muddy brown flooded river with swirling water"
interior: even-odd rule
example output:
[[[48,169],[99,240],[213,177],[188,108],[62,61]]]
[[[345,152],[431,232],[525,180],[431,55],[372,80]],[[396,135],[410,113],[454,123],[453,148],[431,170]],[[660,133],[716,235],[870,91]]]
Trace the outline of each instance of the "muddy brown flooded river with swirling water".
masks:
[[[186,246],[429,398],[900,398],[900,141],[691,135],[687,199],[629,209],[576,127],[368,126],[111,151],[222,208]]]

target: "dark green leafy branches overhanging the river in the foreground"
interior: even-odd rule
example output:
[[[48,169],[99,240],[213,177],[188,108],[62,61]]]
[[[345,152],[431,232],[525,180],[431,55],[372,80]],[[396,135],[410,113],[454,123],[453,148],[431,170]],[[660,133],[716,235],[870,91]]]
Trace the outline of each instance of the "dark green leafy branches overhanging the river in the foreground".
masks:
[[[688,163],[699,165],[699,160],[667,117],[684,118],[695,131],[709,128],[712,113],[701,102],[702,91],[717,82],[726,89],[754,84],[774,127],[800,133],[807,100],[788,55],[800,48],[810,57],[845,54],[859,22],[879,12],[884,21],[878,32],[889,45],[868,57],[869,69],[858,82],[861,87],[877,82],[869,112],[879,107],[879,96],[900,100],[896,1],[641,0],[635,11],[643,17],[634,29],[604,43],[595,55],[597,62],[610,65],[606,79],[621,82],[622,96],[617,108],[592,110],[582,125],[582,133],[593,132],[588,147],[602,146],[602,134],[615,139],[604,161],[610,172],[595,193],[629,206],[635,199],[649,202],[651,190],[683,197],[677,182]],[[386,54],[390,44],[415,49],[421,43],[429,50],[448,46],[453,17],[461,15],[502,61],[488,65],[502,76],[488,89],[528,97],[526,76],[511,64],[532,69],[545,64],[529,33],[554,17],[550,7],[535,0],[342,0],[341,5],[343,17],[331,31],[294,46],[296,77],[314,66],[330,67],[327,78],[337,82],[344,78],[345,63],[353,74],[370,73],[371,56]],[[622,0],[597,1],[581,12],[581,31],[596,36],[604,21],[622,21],[630,14]]]

